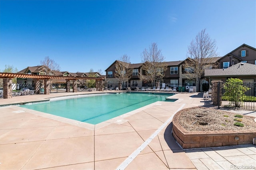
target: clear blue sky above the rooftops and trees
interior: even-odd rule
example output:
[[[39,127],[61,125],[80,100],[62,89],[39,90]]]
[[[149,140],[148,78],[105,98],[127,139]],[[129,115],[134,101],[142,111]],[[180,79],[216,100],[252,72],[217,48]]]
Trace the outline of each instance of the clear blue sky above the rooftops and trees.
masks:
[[[153,42],[166,61],[184,60],[205,28],[220,56],[243,43],[256,47],[256,1],[1,0],[0,71],[46,56],[61,71],[104,71],[124,54],[140,63]]]

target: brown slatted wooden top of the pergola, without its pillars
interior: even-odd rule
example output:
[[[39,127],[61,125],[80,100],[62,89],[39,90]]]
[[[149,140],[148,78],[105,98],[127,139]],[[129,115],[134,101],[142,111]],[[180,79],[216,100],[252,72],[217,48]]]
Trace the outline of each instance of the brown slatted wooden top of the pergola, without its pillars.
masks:
[[[65,79],[65,80],[104,80],[103,77],[80,77],[80,76],[57,76],[57,75],[31,75],[31,74],[19,74],[19,73],[0,73],[0,78],[29,78],[29,79]]]

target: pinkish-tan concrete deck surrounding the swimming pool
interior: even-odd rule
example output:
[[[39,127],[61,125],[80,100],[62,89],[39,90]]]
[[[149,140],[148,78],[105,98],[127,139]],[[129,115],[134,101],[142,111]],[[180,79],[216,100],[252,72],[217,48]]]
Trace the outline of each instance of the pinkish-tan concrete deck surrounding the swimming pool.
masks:
[[[17,96],[0,99],[0,105],[90,93],[99,92]],[[0,169],[256,168],[255,145],[180,148],[171,134],[172,116],[184,108],[213,106],[202,93],[171,98],[178,100],[156,102],[95,126],[15,105],[0,107]]]

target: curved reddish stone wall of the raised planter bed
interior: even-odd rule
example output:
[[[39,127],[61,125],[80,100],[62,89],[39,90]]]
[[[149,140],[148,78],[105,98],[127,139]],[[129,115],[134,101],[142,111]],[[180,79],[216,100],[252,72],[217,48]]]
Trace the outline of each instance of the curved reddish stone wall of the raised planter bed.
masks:
[[[184,149],[253,144],[253,139],[256,138],[256,129],[192,132],[187,131],[178,124],[178,119],[180,114],[184,112],[184,110],[188,109],[183,109],[182,111],[176,113],[172,120],[172,134],[175,140]],[[239,139],[237,140],[236,137],[239,137]]]

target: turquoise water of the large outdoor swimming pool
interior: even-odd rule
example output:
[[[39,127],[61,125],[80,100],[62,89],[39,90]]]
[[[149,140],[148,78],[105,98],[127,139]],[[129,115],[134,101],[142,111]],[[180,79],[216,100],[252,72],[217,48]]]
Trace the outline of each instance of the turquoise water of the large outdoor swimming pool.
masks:
[[[171,95],[174,94],[104,93],[70,99],[56,98],[20,107],[96,125],[156,101],[166,101],[166,97]]]

